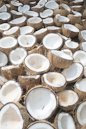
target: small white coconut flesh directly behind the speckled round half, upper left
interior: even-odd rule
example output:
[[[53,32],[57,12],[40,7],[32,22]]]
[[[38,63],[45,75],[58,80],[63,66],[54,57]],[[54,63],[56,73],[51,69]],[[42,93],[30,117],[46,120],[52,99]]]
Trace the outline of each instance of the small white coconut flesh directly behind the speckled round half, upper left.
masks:
[[[31,34],[34,32],[34,28],[31,26],[23,26],[20,27],[20,34],[25,35],[25,34]]]

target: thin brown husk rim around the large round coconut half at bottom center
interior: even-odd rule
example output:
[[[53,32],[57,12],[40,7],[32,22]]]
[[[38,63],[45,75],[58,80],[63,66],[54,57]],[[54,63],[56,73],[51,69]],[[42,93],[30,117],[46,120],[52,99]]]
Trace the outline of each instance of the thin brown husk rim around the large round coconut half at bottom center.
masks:
[[[58,107],[58,97],[56,96],[55,92],[54,92],[52,89],[50,89],[49,87],[42,86],[42,85],[37,85],[36,87],[31,88],[31,89],[27,92],[27,94],[26,94],[26,96],[25,96],[25,106],[27,105],[27,104],[26,104],[26,103],[27,103],[26,100],[27,100],[28,94],[29,94],[32,90],[38,89],[38,88],[45,88],[45,89],[50,90],[50,92],[52,92],[52,94],[55,96],[55,99],[56,99],[56,108],[52,111],[52,113],[50,114],[50,116],[45,119],[45,120],[47,120],[47,119],[50,119],[50,117],[54,114],[55,110],[56,110],[57,107]],[[26,107],[26,110],[27,110],[27,107]],[[29,113],[28,110],[27,110],[27,112],[28,112],[28,114],[29,114],[29,117],[30,117],[33,121],[34,121],[34,120],[39,120],[39,121],[40,121],[40,119],[35,119],[33,116],[31,116],[31,114]]]

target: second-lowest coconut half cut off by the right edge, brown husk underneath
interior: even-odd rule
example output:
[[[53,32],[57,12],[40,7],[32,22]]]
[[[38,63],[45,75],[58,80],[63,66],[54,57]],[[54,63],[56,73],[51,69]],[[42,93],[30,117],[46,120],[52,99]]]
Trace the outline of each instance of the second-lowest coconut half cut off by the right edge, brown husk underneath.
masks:
[[[78,93],[79,97],[81,99],[86,98],[86,78],[83,78],[75,83],[74,85],[74,91]]]

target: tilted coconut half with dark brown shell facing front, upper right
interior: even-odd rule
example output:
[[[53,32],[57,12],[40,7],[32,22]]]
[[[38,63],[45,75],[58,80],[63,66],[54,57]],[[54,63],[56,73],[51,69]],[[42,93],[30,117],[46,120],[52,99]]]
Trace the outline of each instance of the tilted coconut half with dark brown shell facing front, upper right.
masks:
[[[74,38],[74,37],[78,36],[79,29],[72,24],[64,24],[62,26],[62,32],[65,36]]]

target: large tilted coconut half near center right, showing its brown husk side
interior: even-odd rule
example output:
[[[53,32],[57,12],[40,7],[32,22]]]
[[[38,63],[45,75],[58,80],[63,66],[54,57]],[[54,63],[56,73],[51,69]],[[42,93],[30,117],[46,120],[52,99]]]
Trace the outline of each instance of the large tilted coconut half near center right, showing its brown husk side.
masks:
[[[48,53],[48,58],[56,68],[67,68],[73,62],[73,57],[64,51],[51,50]]]

